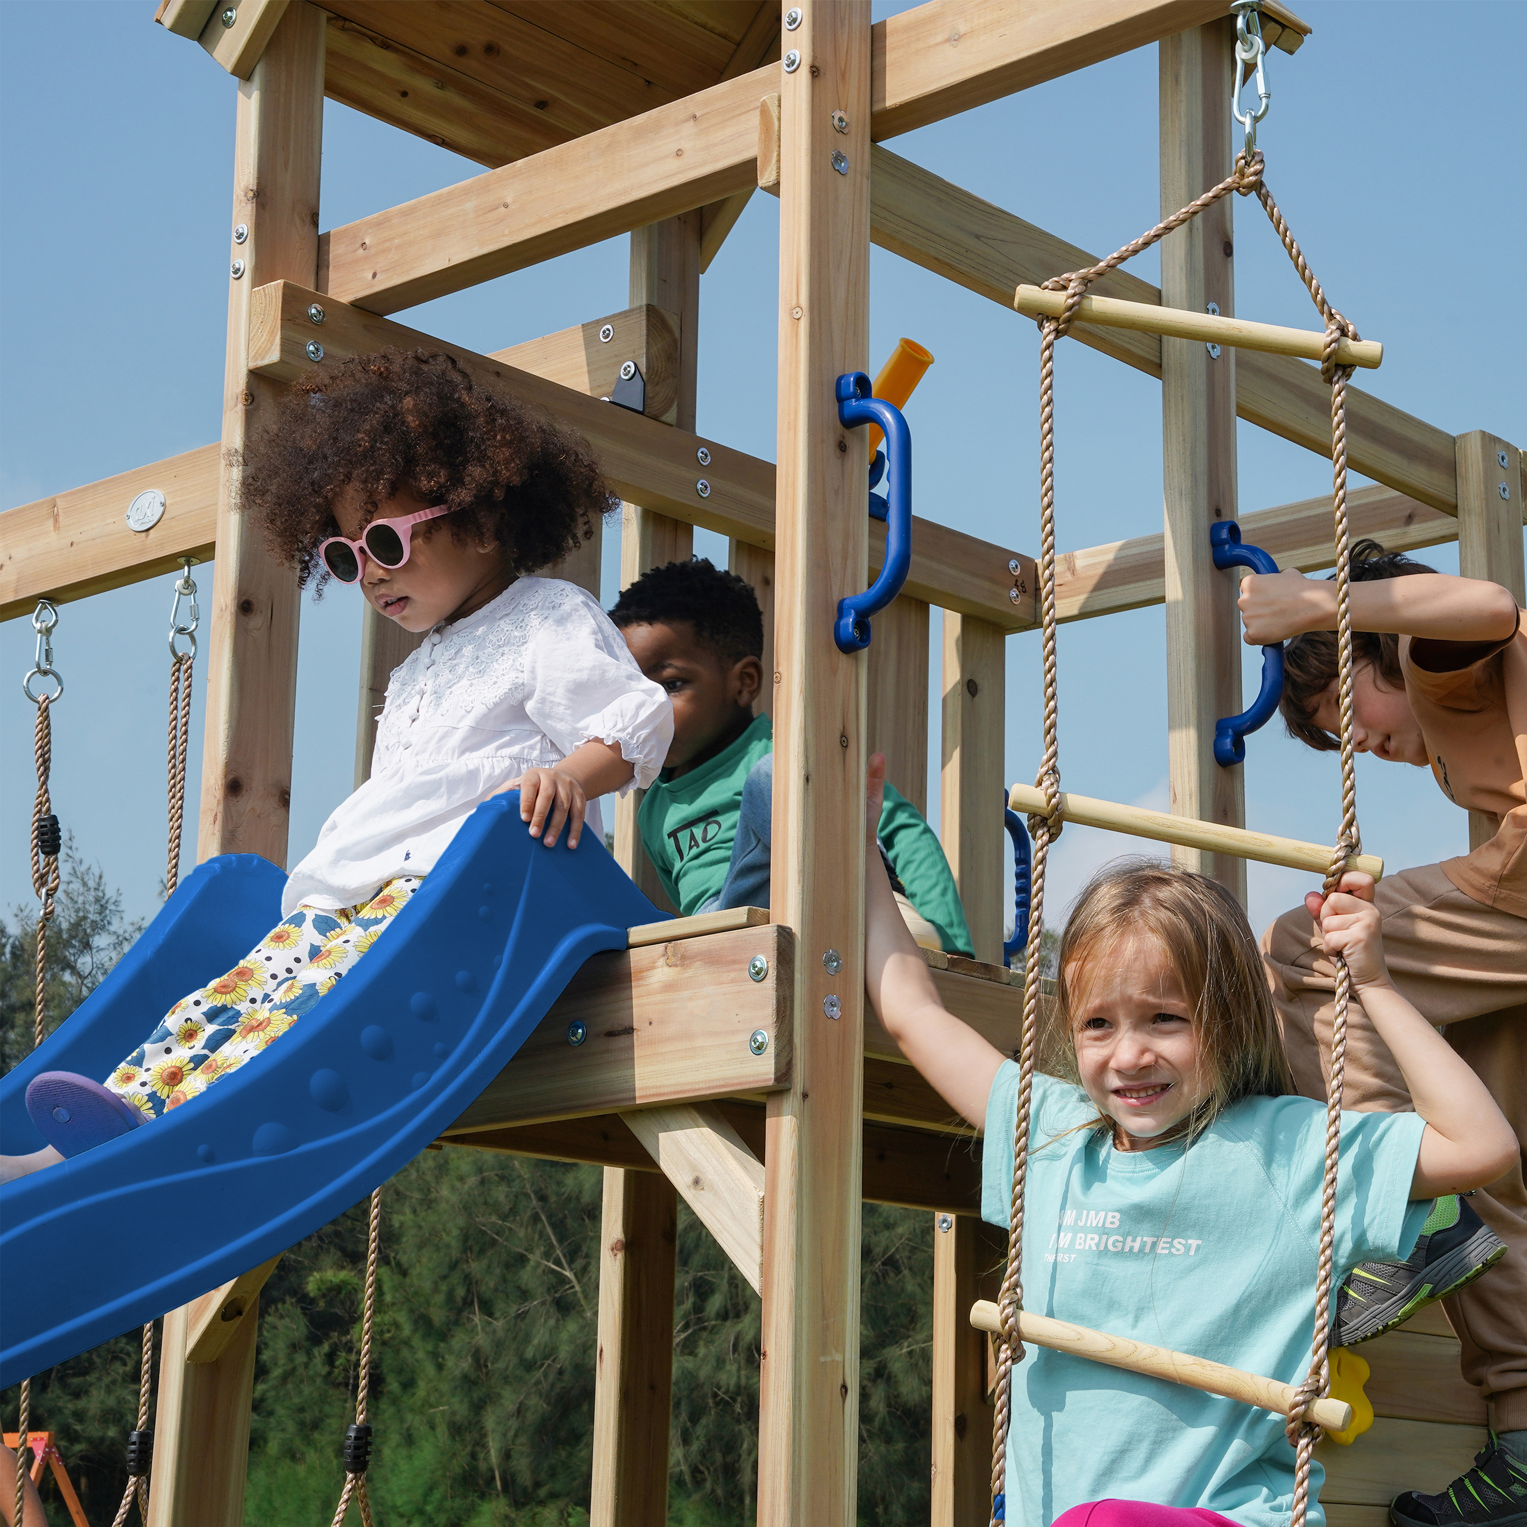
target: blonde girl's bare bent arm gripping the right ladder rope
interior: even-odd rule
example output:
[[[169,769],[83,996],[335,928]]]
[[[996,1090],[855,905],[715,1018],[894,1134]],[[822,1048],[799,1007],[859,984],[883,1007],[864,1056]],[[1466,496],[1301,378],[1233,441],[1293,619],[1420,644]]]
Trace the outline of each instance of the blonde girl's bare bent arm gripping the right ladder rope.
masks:
[[[1324,902],[1313,893],[1304,899],[1319,918],[1325,953],[1345,956],[1353,991],[1426,1121],[1411,1197],[1467,1193],[1504,1176],[1516,1161],[1516,1136],[1467,1061],[1394,989],[1373,878],[1348,873]]]

